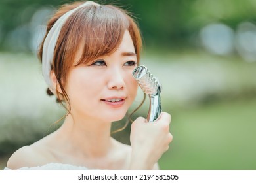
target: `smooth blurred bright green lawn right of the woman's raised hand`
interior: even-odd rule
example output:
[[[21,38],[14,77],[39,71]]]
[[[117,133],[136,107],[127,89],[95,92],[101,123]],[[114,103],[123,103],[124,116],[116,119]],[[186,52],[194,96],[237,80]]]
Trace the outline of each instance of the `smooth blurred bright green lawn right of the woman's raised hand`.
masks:
[[[255,108],[256,97],[171,108],[173,142],[161,169],[255,170]]]

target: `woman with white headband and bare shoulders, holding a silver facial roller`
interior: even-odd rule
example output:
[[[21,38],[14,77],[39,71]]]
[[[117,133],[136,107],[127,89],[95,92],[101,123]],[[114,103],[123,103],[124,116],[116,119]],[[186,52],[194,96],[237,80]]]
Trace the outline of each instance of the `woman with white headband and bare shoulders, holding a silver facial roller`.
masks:
[[[158,169],[169,148],[171,116],[137,118],[131,146],[110,136],[137,94],[140,31],[120,8],[92,1],[64,5],[47,25],[39,49],[47,93],[66,110],[62,126],[14,152],[7,169]]]

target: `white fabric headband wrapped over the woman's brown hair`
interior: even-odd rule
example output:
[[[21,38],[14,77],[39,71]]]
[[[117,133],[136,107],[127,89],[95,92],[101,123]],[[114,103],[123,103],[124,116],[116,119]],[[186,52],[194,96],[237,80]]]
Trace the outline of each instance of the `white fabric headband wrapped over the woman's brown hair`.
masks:
[[[56,46],[56,42],[58,40],[58,36],[60,35],[60,30],[63,26],[63,24],[66,22],[66,20],[70,17],[71,14],[73,14],[77,9],[81,7],[86,7],[88,5],[96,5],[97,3],[93,1],[87,1],[83,3],[82,5],[79,5],[78,7],[74,8],[73,10],[70,10],[69,12],[66,12],[66,14],[62,15],[53,25],[49,33],[47,34],[47,37],[45,38],[45,42],[43,43],[43,54],[42,54],[42,70],[43,70],[43,77],[45,78],[45,82],[51,87],[53,86],[51,81],[51,64],[53,63],[53,54],[54,49]]]

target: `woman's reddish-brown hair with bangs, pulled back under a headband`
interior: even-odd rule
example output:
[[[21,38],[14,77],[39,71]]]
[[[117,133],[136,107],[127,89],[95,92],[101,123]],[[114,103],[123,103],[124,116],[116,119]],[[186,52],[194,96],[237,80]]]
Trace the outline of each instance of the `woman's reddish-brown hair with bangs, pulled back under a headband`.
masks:
[[[51,27],[53,27],[60,16],[83,3],[85,2],[62,5],[49,20],[45,37],[47,37]],[[126,29],[133,40],[137,61],[139,62],[142,39],[135,20],[129,16],[127,11],[114,5],[88,5],[76,10],[66,20],[56,42],[51,69],[56,75],[68,105],[69,99],[64,88],[68,71],[74,64],[75,54],[79,47],[83,46],[83,53],[77,65],[89,63],[99,56],[114,52],[121,43],[121,38]],[[42,61],[45,37],[39,47],[38,57],[40,61]],[[53,95],[49,88],[47,88],[47,93]],[[62,102],[59,95],[60,93],[57,92],[57,101]]]

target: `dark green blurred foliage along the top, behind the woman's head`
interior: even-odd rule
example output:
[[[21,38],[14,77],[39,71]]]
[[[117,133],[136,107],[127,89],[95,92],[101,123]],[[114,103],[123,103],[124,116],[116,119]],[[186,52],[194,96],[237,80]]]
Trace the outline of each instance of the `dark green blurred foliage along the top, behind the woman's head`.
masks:
[[[16,27],[28,24],[33,14],[43,6],[58,7],[71,1],[58,0],[1,0],[0,44]],[[253,0],[102,0],[99,3],[119,5],[132,12],[138,20],[148,46],[194,46],[194,37],[211,22],[223,22],[232,28],[243,22],[255,22],[256,1]],[[24,33],[28,36],[29,31]],[[26,44],[26,43],[24,43]],[[11,50],[11,48],[8,48]]]

